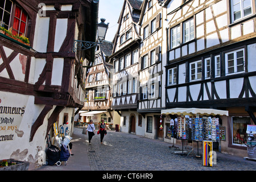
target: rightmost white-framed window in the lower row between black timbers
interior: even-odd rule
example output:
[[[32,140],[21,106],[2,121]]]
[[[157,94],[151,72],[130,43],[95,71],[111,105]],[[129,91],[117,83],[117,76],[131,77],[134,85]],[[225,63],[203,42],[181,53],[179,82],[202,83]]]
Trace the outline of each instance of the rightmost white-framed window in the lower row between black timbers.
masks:
[[[245,71],[245,53],[243,49],[225,53],[226,75]]]

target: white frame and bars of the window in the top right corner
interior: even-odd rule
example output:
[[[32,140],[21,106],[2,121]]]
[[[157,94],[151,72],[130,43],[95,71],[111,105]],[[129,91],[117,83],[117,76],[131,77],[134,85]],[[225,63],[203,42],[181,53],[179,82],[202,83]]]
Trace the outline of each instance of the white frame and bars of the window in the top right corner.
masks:
[[[236,0],[237,1],[237,3],[236,4],[234,4],[234,0],[230,0],[230,3],[231,3],[231,17],[232,17],[232,22],[236,22],[237,20],[240,20],[240,19],[243,19],[243,18],[245,18],[246,16],[249,16],[249,15],[251,15],[251,14],[253,14],[253,2],[251,1],[251,0]],[[243,3],[243,2],[250,2],[250,6],[246,6],[246,7],[244,7],[245,6],[245,3]],[[251,13],[250,14],[247,14],[247,15],[245,15],[245,10],[246,9],[250,9],[251,10]],[[235,14],[236,13],[239,13],[240,12],[240,18],[237,18],[237,19],[235,19]]]

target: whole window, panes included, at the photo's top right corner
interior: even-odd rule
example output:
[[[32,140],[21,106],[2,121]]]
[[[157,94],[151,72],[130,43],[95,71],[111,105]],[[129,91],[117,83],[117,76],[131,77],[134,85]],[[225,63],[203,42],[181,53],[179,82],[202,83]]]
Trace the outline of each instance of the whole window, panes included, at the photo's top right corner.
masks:
[[[231,0],[232,22],[252,14],[251,0]]]

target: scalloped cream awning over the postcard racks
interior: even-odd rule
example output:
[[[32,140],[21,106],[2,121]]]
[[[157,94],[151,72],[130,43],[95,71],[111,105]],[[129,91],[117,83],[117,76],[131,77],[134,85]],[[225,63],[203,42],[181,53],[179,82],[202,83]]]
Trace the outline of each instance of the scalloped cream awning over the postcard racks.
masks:
[[[161,114],[183,114],[183,115],[193,115],[193,114],[202,114],[202,115],[229,115],[229,111],[218,110],[218,109],[199,109],[199,108],[173,108],[173,109],[164,109],[161,111]]]

